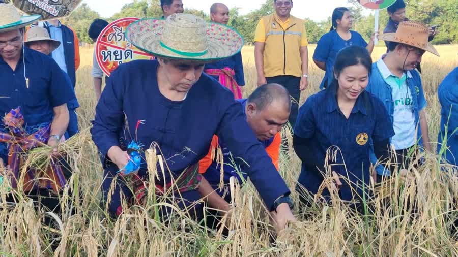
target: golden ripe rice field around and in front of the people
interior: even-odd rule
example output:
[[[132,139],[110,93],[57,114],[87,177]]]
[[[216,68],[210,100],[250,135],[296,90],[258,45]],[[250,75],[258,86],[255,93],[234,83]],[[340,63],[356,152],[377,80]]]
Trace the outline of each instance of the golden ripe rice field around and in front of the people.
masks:
[[[311,62],[313,49],[310,46],[309,87],[301,102],[318,91],[324,75]],[[442,57],[426,53],[422,62],[432,141],[437,139],[440,121],[437,87],[458,66],[458,45],[439,46],[438,50]],[[385,47],[377,47],[374,60],[384,51]],[[244,93],[248,95],[256,85],[253,47],[242,52],[247,80]],[[458,236],[453,237],[451,230],[458,219],[453,202],[458,199],[458,177],[431,153],[424,155],[424,166],[410,167],[408,176],[374,187],[377,198],[366,203],[371,208],[364,214],[353,213],[337,199],[331,206],[316,202],[303,212],[295,209],[298,222],[290,223],[279,235],[249,182],[235,188],[228,237],[206,229],[185,212],[177,212],[167,224],[160,223],[155,214],[155,208],[164,205],[160,200],[146,208],[132,207],[118,220],[110,219],[100,200],[102,167],[87,130],[96,104],[91,65],[92,48],[81,48],[77,95],[82,132],[62,147],[74,169],[61,196],[64,214],[37,212],[19,192],[19,204],[5,205],[4,184],[0,187],[0,256],[458,256]],[[284,136],[291,140],[289,131]],[[46,154],[39,151],[30,158],[31,163],[47,162]],[[299,171],[300,161],[294,153],[282,152],[280,172],[290,188],[295,187]],[[329,174],[329,167],[323,172]],[[323,186],[330,186],[330,181],[328,176]],[[386,202],[389,207],[384,207]],[[42,224],[45,217],[53,219],[55,226]]]

